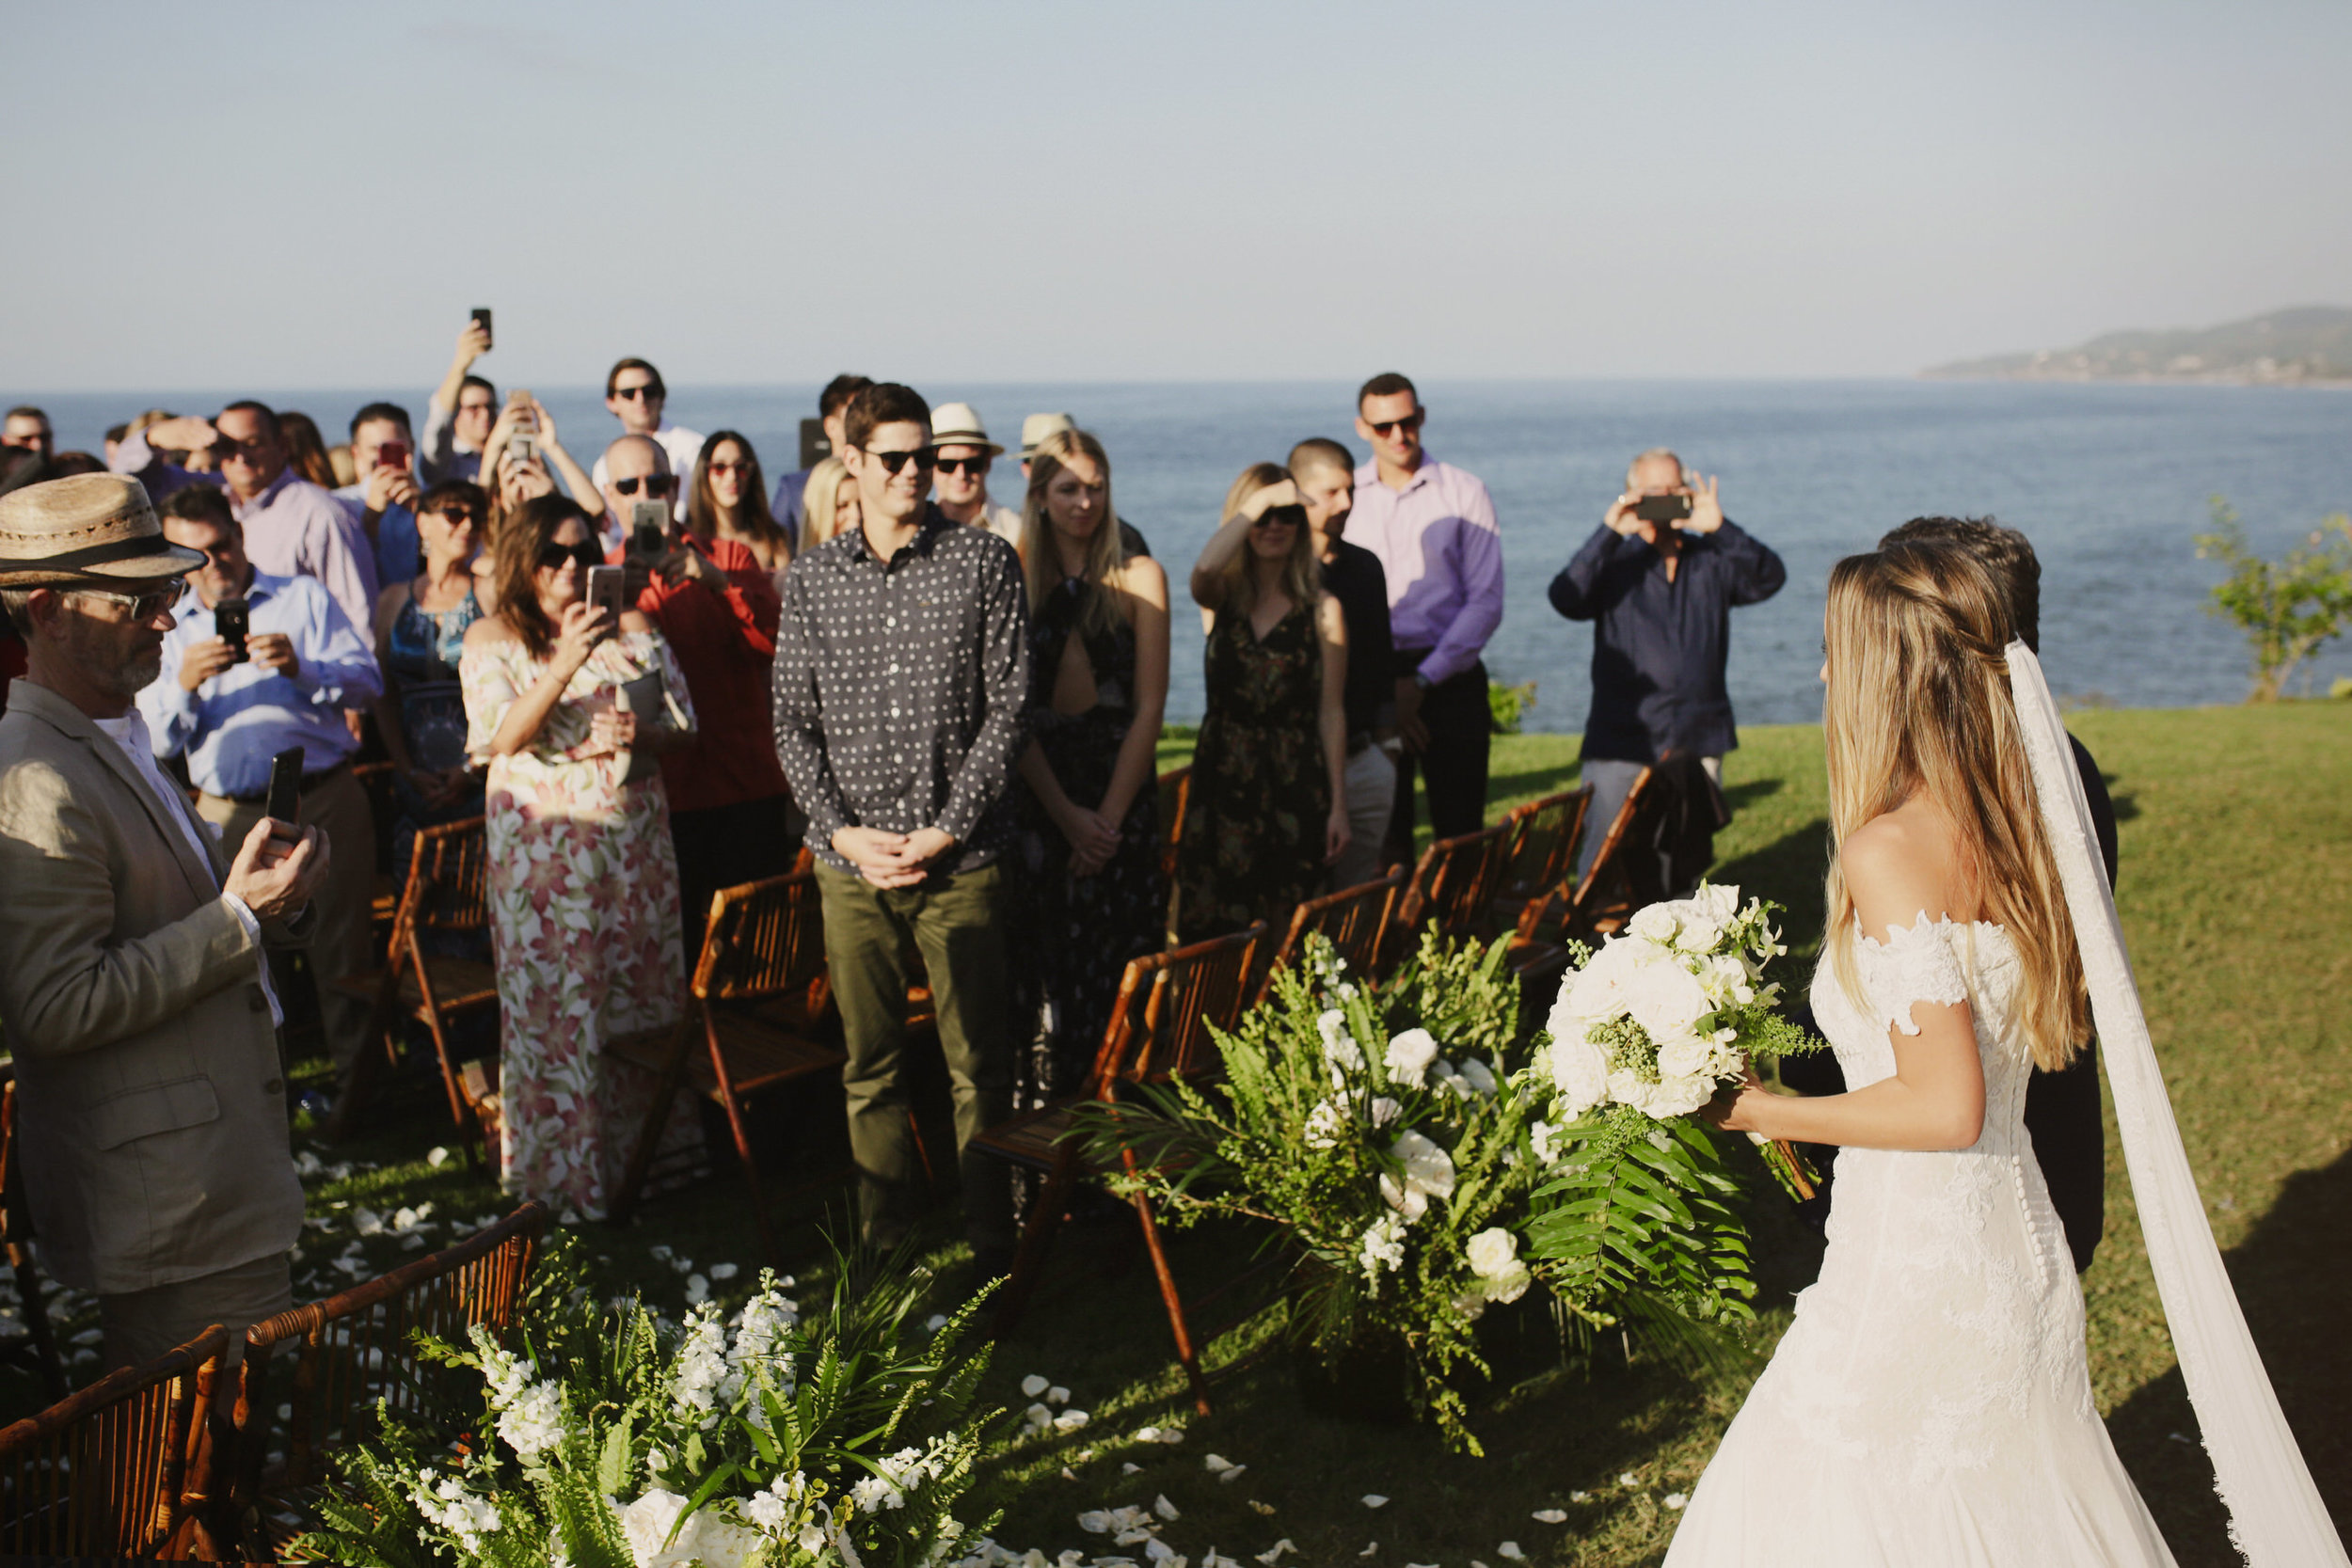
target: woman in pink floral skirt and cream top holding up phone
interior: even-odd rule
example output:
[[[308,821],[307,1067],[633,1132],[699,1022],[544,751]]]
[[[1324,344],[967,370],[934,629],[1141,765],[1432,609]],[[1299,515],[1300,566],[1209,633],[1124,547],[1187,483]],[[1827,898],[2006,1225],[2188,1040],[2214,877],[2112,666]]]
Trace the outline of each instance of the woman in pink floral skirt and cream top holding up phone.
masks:
[[[668,797],[633,762],[694,743],[654,623],[588,604],[602,559],[576,503],[524,503],[496,545],[499,611],[466,632],[459,665],[468,750],[489,762],[501,1185],[588,1218],[607,1213],[652,1095],[604,1041],[684,1006]],[[673,1117],[663,1147],[699,1126]]]

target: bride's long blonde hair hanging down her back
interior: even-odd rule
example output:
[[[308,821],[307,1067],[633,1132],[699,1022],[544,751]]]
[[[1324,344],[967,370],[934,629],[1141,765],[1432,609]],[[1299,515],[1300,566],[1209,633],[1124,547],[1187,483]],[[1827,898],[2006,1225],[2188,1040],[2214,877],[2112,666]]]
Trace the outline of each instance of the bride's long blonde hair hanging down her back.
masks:
[[[2042,832],[2004,649],[2013,635],[2002,583],[1966,550],[1898,543],[1830,571],[1830,832],[1926,795],[1959,830],[1959,877],[1983,919],[2009,931],[2025,978],[2018,1027],[2042,1067],[2065,1067],[2091,1037],[2074,922]],[[1832,856],[1828,947],[1860,1001],[1853,893]]]

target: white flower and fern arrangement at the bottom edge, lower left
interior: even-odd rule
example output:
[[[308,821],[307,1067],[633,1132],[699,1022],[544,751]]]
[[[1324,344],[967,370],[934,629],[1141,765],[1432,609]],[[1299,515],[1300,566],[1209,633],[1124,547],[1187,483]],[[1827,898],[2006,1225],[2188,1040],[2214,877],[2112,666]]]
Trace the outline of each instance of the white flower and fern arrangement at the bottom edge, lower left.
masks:
[[[517,1326],[421,1338],[466,1401],[428,1403],[343,1458],[346,1488],[299,1544],[336,1563],[423,1568],[929,1568],[983,1528],[953,1516],[981,1453],[964,1425],[985,1352],[967,1305],[927,1340],[922,1276],[837,1274],[802,1316],[771,1272],[724,1319],[666,1326],[635,1298],[564,1291],[562,1251]],[[430,1387],[430,1380],[428,1380]]]

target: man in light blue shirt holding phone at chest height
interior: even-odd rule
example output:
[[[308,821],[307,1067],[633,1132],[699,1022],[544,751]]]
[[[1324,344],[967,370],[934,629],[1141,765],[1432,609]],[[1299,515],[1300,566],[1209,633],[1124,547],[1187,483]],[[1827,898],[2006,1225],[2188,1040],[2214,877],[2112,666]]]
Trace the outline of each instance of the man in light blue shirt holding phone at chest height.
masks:
[[[350,776],[360,750],[346,708],[383,693],[376,654],[315,578],[270,576],[245,557],[245,534],[216,489],[183,489],[162,503],[162,531],[205,562],[195,590],[162,637],[162,679],[139,693],[158,757],[186,757],[200,795],[195,813],[223,844],[268,816],[270,759],[299,748],[301,811],[334,851],[318,889],[310,973],[320,992],[327,1051],[348,1070],[367,1034],[367,1004],[334,983],[369,966],[376,823],[367,790]],[[223,630],[238,630],[242,649]]]

